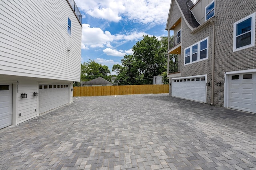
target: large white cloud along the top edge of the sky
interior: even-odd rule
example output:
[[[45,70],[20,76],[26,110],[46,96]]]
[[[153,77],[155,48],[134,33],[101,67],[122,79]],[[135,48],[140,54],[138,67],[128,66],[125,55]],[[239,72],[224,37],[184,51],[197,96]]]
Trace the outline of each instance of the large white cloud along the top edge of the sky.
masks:
[[[95,18],[120,21],[122,18],[140,23],[166,23],[168,0],[76,0],[77,6]]]

